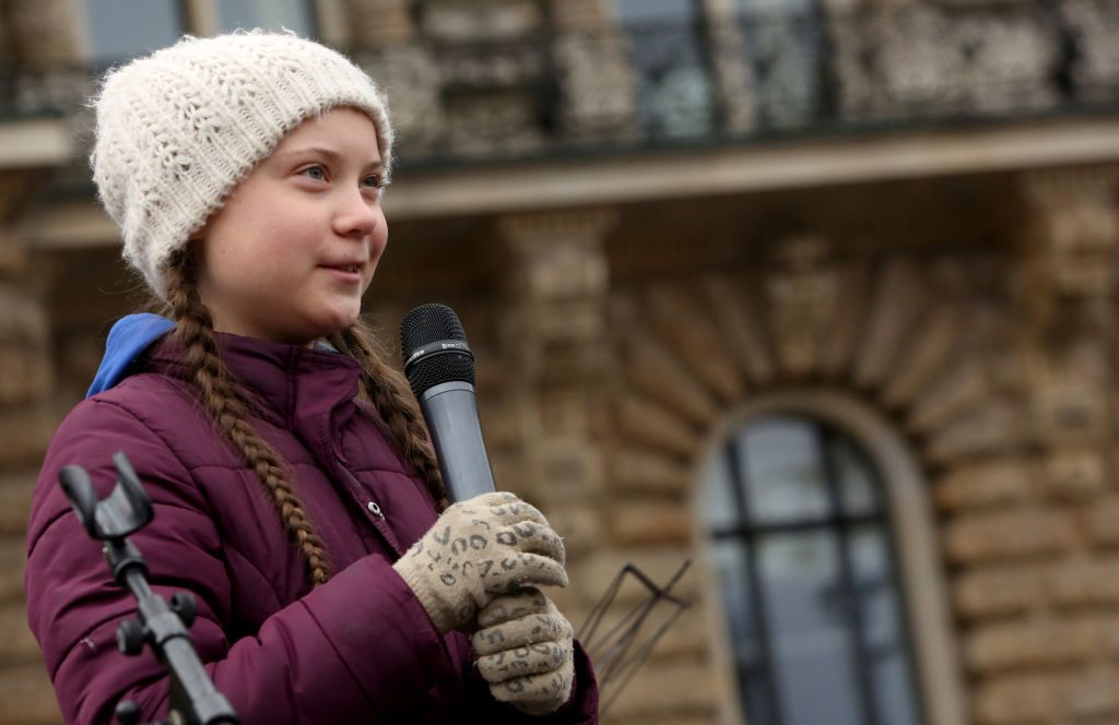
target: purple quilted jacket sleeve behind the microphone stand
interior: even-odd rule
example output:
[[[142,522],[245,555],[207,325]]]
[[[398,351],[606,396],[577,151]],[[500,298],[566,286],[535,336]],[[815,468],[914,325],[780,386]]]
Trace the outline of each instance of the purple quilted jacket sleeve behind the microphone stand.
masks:
[[[93,398],[51,443],[27,542],[29,623],[67,723],[109,723],[122,697],[141,705],[144,721],[168,706],[168,678],[151,652],[126,658],[114,647],[115,628],[133,615],[135,600],[111,580],[57,483],[63,465],[79,463],[104,497],[120,450],[154,505],[154,521],[131,537],[148,559],[152,587],[168,597],[195,594],[195,648],[243,723],[408,722],[406,714],[441,681],[461,680],[422,605],[379,556],[281,609],[255,637],[227,641],[228,576],[205,497],[142,420]]]

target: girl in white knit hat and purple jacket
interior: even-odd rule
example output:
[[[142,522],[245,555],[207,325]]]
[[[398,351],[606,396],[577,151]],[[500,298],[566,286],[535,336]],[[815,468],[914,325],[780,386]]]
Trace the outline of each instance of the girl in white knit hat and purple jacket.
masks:
[[[50,444],[28,529],[31,630],[68,723],[166,717],[135,601],[58,484],[124,451],[153,589],[246,724],[593,723],[594,676],[540,590],[563,545],[509,493],[445,508],[407,385],[359,322],[393,132],[356,66],[291,35],[185,38],[105,79],[91,158],[125,258],[167,304],[110,333]],[[445,510],[443,510],[445,508]]]

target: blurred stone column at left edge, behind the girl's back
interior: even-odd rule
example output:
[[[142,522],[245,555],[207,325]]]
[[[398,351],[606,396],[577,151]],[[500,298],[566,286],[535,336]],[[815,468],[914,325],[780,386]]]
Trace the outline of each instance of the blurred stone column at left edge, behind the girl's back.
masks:
[[[31,490],[54,429],[53,365],[41,265],[4,213],[18,206],[21,185],[3,181],[0,173],[0,722],[46,723],[58,710],[27,629],[22,571]]]

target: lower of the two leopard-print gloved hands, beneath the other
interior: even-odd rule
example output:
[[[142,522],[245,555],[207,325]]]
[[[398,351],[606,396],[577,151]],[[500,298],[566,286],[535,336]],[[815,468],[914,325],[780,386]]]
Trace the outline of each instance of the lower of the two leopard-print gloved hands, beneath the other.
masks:
[[[544,592],[525,587],[496,597],[470,638],[490,694],[528,715],[546,715],[571,697],[573,630]]]

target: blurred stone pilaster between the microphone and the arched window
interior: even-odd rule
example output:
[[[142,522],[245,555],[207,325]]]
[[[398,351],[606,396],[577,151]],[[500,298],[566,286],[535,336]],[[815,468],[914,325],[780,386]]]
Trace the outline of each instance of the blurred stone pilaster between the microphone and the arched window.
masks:
[[[525,493],[565,537],[572,586],[556,600],[579,628],[608,582],[585,565],[600,544],[605,395],[608,211],[501,219],[509,262],[504,339],[520,425]]]

